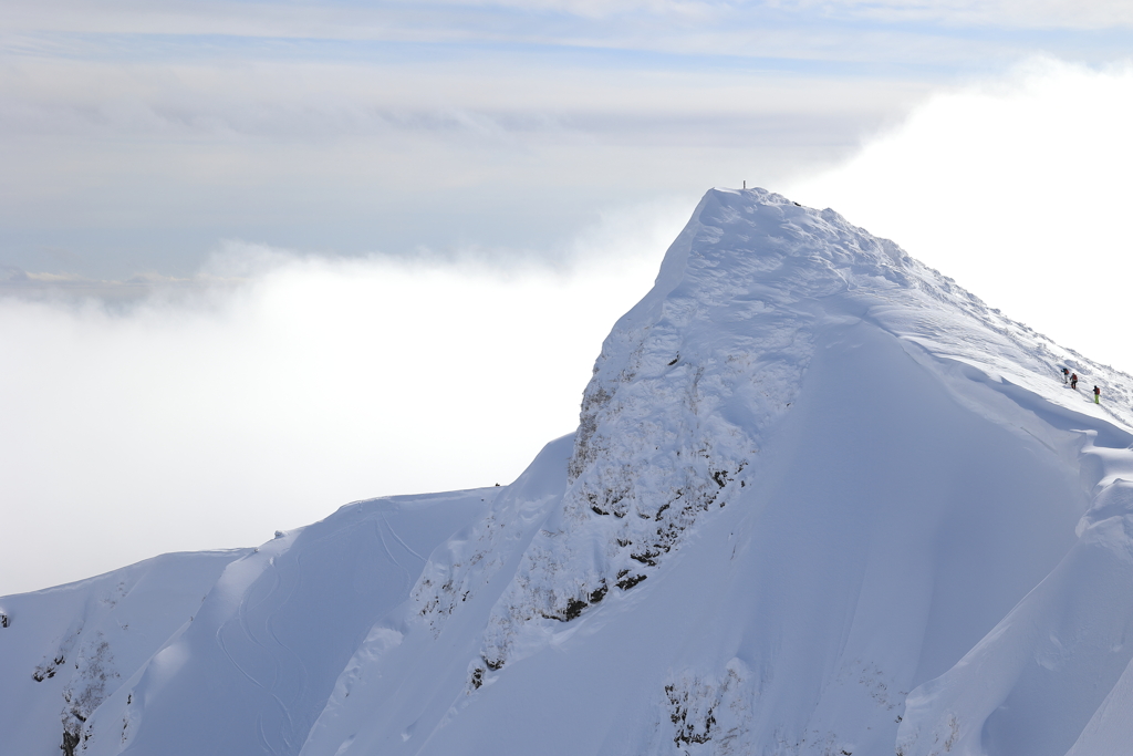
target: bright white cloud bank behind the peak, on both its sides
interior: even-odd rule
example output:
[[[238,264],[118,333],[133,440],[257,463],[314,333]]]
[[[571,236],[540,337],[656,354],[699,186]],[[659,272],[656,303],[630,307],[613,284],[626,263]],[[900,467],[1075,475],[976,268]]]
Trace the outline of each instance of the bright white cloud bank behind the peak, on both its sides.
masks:
[[[1133,369],[1131,110],[1128,66],[1034,60],[767,188]],[[509,483],[574,428],[690,197],[612,207],[531,254],[228,240],[180,278],[3,272],[0,594],[255,545],[357,499]]]

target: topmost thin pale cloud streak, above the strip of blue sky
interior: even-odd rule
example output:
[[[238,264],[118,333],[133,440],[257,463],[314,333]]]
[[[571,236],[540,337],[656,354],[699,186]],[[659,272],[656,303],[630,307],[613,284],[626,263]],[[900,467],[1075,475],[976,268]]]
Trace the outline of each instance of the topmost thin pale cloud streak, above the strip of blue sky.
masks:
[[[511,28],[523,28],[525,18],[544,27],[559,24],[658,22],[698,27],[727,26],[750,19],[780,23],[815,20],[872,20],[888,24],[926,23],[968,27],[1097,29],[1133,25],[1133,9],[1121,0],[448,0],[427,9],[412,3],[279,2],[105,2],[97,11],[71,0],[50,6],[12,2],[7,11],[10,29],[100,32],[130,34],[223,34],[237,36],[297,36],[351,40],[468,39],[476,20],[510,16]],[[573,22],[573,24],[570,24]],[[504,27],[506,28],[506,27]],[[586,28],[583,26],[582,28]],[[495,31],[506,39],[506,31]]]

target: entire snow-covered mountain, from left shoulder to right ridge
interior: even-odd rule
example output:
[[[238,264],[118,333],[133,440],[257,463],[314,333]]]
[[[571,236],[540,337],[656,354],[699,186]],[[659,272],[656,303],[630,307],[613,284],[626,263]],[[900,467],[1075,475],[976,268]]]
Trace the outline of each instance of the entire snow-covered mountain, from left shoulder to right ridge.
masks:
[[[1131,405],[834,211],[713,189],[513,484],[0,598],[0,749],[1133,751]]]

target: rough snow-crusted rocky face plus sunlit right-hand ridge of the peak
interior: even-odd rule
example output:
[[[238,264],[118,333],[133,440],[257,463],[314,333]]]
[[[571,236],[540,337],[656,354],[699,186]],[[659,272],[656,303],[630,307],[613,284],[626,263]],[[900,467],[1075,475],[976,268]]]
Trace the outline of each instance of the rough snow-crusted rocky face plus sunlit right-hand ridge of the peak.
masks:
[[[654,290],[603,347],[561,521],[539,533],[493,612],[491,669],[523,623],[573,619],[645,580],[701,512],[746,485],[744,468],[798,393],[815,329],[828,322],[819,303],[835,296],[837,316],[870,317],[938,358],[1022,385],[1046,387],[1056,355],[1077,357],[834,211],[761,189],[709,192]],[[939,317],[942,305],[951,317]],[[1087,360],[1068,364],[1084,377]],[[1107,410],[1128,419],[1128,376],[1089,371]]]

